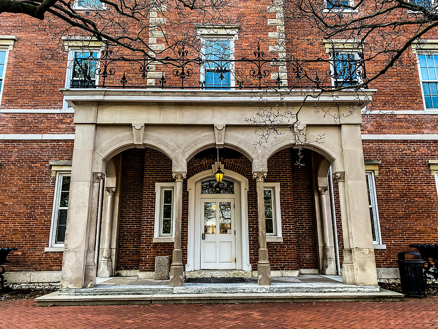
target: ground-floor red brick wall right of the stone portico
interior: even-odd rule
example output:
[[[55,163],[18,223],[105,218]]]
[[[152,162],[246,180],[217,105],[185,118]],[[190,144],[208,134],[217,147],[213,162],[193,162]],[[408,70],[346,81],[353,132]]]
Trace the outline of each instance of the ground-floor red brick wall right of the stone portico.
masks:
[[[391,152],[388,152],[391,150]],[[397,252],[412,243],[438,243],[438,194],[426,160],[438,141],[364,141],[365,159],[380,160],[376,176],[383,244],[377,267],[397,267]]]

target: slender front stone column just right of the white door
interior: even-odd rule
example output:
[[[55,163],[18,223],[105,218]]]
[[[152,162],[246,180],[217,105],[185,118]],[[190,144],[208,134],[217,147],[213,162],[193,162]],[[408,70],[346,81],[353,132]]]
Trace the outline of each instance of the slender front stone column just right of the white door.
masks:
[[[263,193],[263,180],[267,173],[254,173],[257,190],[258,206],[258,262],[257,262],[257,282],[260,286],[271,285],[271,265],[268,260],[268,248],[266,245],[266,225],[265,225],[265,199]]]

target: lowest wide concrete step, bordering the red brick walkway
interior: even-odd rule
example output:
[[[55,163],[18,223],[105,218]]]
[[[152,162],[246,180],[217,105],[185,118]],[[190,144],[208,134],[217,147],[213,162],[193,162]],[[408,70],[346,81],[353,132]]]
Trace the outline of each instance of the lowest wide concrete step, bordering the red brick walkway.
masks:
[[[208,304],[329,301],[400,301],[401,293],[380,289],[374,292],[292,293],[182,293],[65,295],[57,291],[35,299],[37,306],[121,305],[121,304]]]

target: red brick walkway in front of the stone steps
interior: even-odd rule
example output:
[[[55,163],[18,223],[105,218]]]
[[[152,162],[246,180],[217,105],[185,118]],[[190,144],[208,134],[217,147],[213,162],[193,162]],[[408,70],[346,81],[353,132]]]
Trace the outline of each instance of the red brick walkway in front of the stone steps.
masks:
[[[0,328],[438,328],[438,297],[402,302],[36,307],[0,302]]]

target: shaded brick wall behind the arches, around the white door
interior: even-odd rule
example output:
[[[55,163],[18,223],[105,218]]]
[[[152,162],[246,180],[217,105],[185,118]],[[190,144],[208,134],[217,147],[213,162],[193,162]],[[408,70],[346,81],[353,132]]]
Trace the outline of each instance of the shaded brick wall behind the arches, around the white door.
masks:
[[[274,154],[268,163],[270,178],[267,181],[280,182],[284,239],[282,244],[268,243],[272,270],[317,267],[310,153],[305,153],[305,166],[302,167],[292,164],[296,156],[296,150],[285,149]],[[251,162],[244,155],[227,148],[221,150],[220,159],[226,169],[236,171],[249,180],[250,262],[256,269],[257,199]],[[215,161],[216,149],[208,149],[195,155],[188,162],[187,178],[201,171],[211,170]],[[172,163],[159,151],[150,148],[132,149],[122,153],[122,168],[117,270],[153,271],[155,256],[171,255],[173,249],[173,243],[152,242],[155,183],[172,181]],[[182,224],[184,262],[187,259],[187,215],[188,191],[185,181]]]

